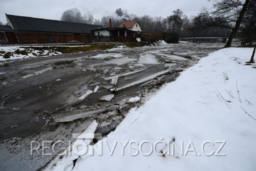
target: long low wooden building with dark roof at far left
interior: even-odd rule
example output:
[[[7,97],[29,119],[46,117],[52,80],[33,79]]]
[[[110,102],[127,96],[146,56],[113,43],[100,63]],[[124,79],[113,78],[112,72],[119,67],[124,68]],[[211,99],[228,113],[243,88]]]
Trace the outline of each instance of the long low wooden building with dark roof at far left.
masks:
[[[91,30],[102,26],[6,14],[0,26],[0,45],[77,44],[92,42]]]

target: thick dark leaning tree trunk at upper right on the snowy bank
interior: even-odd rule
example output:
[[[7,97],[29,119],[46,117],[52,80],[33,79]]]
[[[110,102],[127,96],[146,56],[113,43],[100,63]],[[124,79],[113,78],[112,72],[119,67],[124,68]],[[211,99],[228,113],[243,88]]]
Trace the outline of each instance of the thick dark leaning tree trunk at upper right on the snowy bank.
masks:
[[[227,41],[227,44],[225,45],[225,48],[228,48],[228,47],[231,47],[231,44],[232,44],[232,41],[233,41],[233,38],[234,36],[236,35],[239,27],[240,27],[240,24],[242,22],[242,19],[244,17],[244,14],[246,12],[246,9],[247,9],[247,6],[249,4],[250,0],[246,0],[244,5],[243,5],[243,8],[242,10],[240,11],[240,14],[239,14],[239,17],[238,17],[238,20],[236,22],[236,26],[234,26],[234,28],[232,29],[232,32],[230,34],[230,36],[228,37],[228,41]]]

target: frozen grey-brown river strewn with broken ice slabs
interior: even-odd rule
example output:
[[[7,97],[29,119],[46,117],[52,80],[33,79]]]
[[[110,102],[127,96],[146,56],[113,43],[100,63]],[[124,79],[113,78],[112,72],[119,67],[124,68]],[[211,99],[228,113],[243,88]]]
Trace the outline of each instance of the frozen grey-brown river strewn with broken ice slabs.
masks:
[[[129,109],[222,47],[172,44],[8,62],[0,67],[1,153],[12,158],[10,151],[15,151],[13,160],[27,165],[24,168],[40,168],[51,157],[39,163],[33,160],[40,157],[18,159],[29,149],[29,140],[67,140],[92,119],[98,122],[97,133],[108,134]]]

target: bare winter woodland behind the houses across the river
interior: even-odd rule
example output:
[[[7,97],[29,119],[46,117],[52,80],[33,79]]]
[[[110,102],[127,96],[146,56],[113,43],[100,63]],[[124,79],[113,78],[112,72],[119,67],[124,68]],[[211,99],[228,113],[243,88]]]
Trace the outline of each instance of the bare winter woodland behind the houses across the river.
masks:
[[[73,8],[63,12],[60,19],[69,22],[102,25],[103,27],[109,27],[109,18],[112,18],[113,27],[118,27],[124,21],[138,20],[146,33],[176,32],[179,33],[180,37],[229,36],[236,23],[234,21],[239,16],[237,11],[242,8],[244,1],[230,0],[229,3],[225,2],[215,1],[211,10],[202,8],[198,15],[190,17],[186,16],[180,9],[163,18],[150,15],[137,16],[127,10],[118,8],[115,11],[116,15],[103,16],[101,19],[96,19],[92,13],[86,12],[82,14],[77,8]],[[225,4],[229,6],[225,7]],[[256,2],[250,1],[236,36],[245,36],[248,31],[255,34],[255,18]]]

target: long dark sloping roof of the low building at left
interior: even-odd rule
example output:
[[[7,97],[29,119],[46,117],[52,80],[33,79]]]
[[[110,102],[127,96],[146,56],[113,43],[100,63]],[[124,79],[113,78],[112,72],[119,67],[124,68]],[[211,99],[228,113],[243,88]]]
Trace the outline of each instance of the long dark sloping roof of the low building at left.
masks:
[[[33,18],[6,14],[12,27],[18,31],[91,33],[91,30],[102,28],[99,25],[63,22],[60,20]]]

